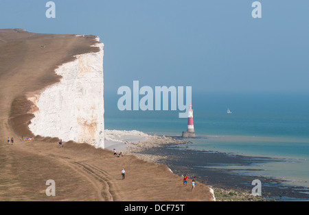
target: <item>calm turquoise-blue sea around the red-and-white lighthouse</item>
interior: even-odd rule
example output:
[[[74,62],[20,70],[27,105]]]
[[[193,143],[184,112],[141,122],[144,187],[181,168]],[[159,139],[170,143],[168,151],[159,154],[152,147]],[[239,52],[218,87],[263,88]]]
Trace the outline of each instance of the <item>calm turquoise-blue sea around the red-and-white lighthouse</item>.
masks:
[[[105,129],[179,137],[187,129],[187,118],[179,118],[179,110],[120,111],[119,97],[104,96]],[[279,159],[282,162],[224,168],[283,180],[286,186],[307,188],[309,194],[309,93],[201,92],[192,94],[192,106],[196,138],[187,139],[187,149]]]

